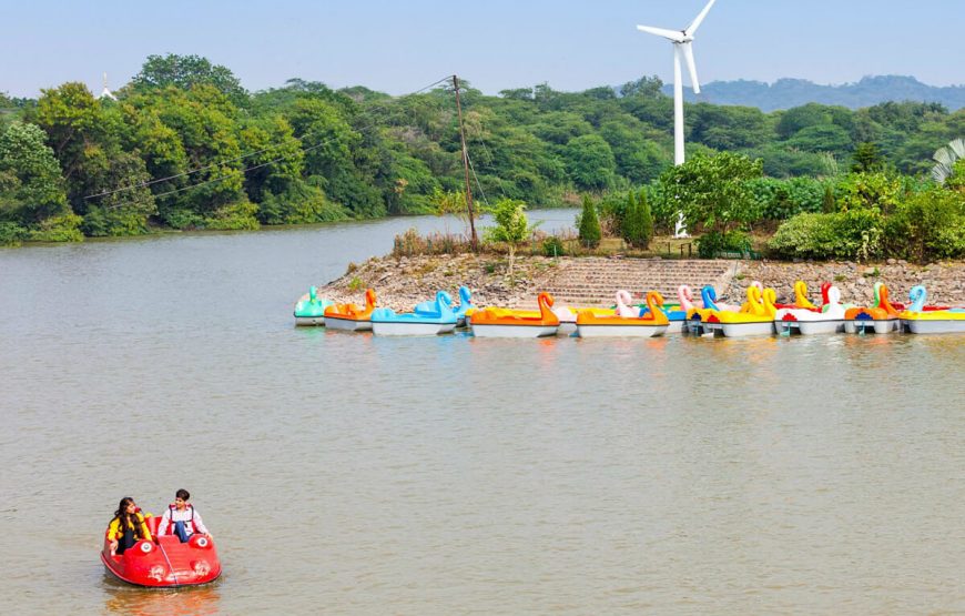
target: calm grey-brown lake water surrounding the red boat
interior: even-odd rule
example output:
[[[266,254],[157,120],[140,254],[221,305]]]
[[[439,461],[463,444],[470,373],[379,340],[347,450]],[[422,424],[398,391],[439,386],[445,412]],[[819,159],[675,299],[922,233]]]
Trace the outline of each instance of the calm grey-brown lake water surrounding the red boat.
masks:
[[[962,336],[294,326],[414,224],[0,250],[0,613],[965,613]],[[179,487],[222,579],[115,582]]]

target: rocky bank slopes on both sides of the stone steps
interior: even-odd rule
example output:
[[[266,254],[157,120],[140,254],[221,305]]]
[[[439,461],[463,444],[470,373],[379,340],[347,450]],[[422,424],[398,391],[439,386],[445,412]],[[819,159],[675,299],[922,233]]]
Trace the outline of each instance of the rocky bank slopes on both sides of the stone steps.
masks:
[[[499,254],[372,257],[358,265],[349,264],[343,276],[319,286],[318,296],[337,303],[359,303],[365,290],[373,287],[378,293],[378,305],[400,312],[433,297],[438,290],[458,297],[458,287],[465,284],[473,291],[477,305],[515,307],[531,304],[535,293],[559,274],[559,263],[565,259],[578,257],[518,256],[510,280],[507,260]],[[816,295],[821,283],[831,282],[841,290],[844,302],[866,303],[874,295],[874,283],[882,281],[895,301],[906,301],[911,287],[922,284],[928,291],[930,303],[965,304],[965,262],[917,265],[896,260],[884,263],[744,261],[720,299],[740,303],[751,282],[761,281],[765,287],[774,287],[780,302],[793,301],[793,285],[798,280],[807,284],[812,295]]]

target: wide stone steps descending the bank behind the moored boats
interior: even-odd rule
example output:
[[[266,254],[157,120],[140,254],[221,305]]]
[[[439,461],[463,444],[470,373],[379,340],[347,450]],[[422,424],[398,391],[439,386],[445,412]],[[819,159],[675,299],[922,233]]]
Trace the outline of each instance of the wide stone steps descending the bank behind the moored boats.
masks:
[[[690,285],[694,296],[705,284],[722,295],[737,267],[738,262],[723,260],[565,259],[540,291],[549,292],[561,306],[610,306],[621,289],[634,302],[643,301],[648,291],[659,291],[671,303],[677,302],[681,284]]]

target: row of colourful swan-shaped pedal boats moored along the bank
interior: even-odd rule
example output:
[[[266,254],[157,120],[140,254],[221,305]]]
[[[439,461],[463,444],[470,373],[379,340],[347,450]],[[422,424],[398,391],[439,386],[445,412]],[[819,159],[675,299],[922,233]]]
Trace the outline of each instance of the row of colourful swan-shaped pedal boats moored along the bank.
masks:
[[[318,297],[313,286],[295,304],[297,325],[324,325],[329,330],[372,331],[375,335],[438,335],[456,329],[470,329],[478,337],[650,337],[683,332],[728,337],[749,335],[790,335],[827,333],[906,332],[914,334],[965,333],[965,306],[928,305],[924,286],[914,286],[908,304],[892,302],[887,286],[874,286],[874,301],[862,306],[841,302],[841,292],[830,283],[821,287],[821,303],[807,297],[807,286],[798,281],[794,303],[780,304],[773,289],[753,282],[743,304],[717,300],[714,289],[704,286],[694,301],[691,289],[678,287],[678,302],[664,303],[651,291],[643,304],[633,304],[630,293],[618,291],[610,309],[555,306],[548,293],[537,297],[538,310],[477,307],[469,289],[459,289],[454,304],[446,291],[410,312],[396,313],[376,306],[375,291],[365,292],[364,304],[334,303]]]

